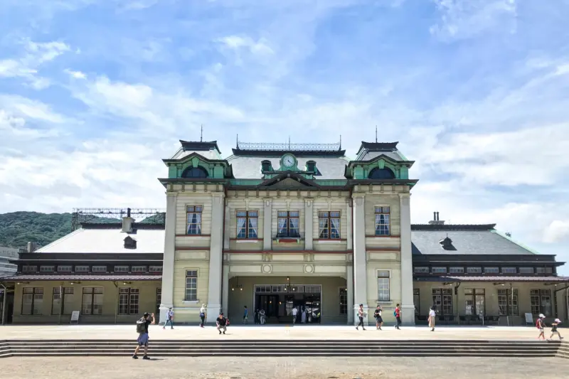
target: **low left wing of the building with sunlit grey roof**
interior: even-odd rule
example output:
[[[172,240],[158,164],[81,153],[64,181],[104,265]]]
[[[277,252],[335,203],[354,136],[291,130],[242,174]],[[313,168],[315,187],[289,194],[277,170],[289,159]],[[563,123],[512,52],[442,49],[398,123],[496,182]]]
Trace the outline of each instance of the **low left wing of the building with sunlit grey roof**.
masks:
[[[132,323],[161,303],[164,225],[83,224],[38,250],[21,253],[16,274],[0,277],[12,297],[5,322]]]

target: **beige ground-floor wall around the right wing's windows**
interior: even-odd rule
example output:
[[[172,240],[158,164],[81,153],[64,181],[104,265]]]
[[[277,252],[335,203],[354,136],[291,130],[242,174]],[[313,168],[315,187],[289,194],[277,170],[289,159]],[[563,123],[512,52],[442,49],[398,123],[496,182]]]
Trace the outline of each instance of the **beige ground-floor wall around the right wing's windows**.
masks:
[[[413,288],[419,289],[420,292],[420,314],[423,316],[428,315],[429,307],[432,305],[432,289],[436,288],[450,288],[452,289],[452,309],[454,318],[456,319],[457,311],[460,316],[463,316],[465,311],[465,295],[464,289],[484,289],[484,302],[485,302],[485,314],[486,316],[498,316],[499,306],[498,306],[498,290],[499,289],[509,289],[509,284],[506,283],[505,286],[494,285],[493,283],[479,283],[479,282],[463,282],[460,284],[458,289],[458,299],[457,295],[454,294],[454,287],[456,284],[444,286],[442,282],[414,282]],[[546,321],[551,320],[555,317],[555,303],[553,301],[554,290],[557,289],[554,285],[544,285],[543,283],[514,283],[514,289],[518,289],[518,304],[519,304],[519,316],[514,316],[513,320],[510,318],[510,324],[513,325],[525,325],[525,314],[531,313],[531,301],[530,301],[530,290],[531,289],[550,289],[552,297],[551,305],[551,316],[548,316]],[[564,303],[565,292],[560,291],[557,293],[558,300],[558,317],[563,317],[565,314],[565,303]],[[533,321],[536,321],[536,316],[533,316]],[[500,325],[507,325],[506,317],[500,318]]]

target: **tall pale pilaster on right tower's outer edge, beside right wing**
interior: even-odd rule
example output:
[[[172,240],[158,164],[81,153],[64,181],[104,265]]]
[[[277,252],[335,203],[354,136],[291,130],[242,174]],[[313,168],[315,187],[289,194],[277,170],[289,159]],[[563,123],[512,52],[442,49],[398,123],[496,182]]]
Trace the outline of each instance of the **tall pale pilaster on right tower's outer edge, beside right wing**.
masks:
[[[415,325],[413,305],[413,257],[411,255],[410,193],[399,194],[401,243],[401,321]]]

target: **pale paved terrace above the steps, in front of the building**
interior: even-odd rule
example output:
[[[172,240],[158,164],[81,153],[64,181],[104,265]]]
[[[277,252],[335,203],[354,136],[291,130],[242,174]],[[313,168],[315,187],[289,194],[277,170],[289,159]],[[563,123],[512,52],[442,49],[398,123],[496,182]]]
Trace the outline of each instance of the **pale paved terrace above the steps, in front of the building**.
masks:
[[[565,332],[565,330],[567,332]],[[546,329],[548,337],[549,330]],[[560,329],[563,336],[569,336],[569,329]],[[159,340],[286,340],[286,339],[464,339],[464,340],[527,340],[535,339],[538,330],[533,326],[439,326],[434,332],[424,326],[402,327],[395,330],[385,326],[382,331],[375,325],[366,331],[356,331],[353,326],[243,326],[231,325],[224,336],[215,326],[174,326],[174,330],[163,330],[151,325],[149,335]],[[0,326],[0,340],[14,339],[112,339],[133,341],[137,338],[136,326],[132,325],[61,325],[61,326]]]

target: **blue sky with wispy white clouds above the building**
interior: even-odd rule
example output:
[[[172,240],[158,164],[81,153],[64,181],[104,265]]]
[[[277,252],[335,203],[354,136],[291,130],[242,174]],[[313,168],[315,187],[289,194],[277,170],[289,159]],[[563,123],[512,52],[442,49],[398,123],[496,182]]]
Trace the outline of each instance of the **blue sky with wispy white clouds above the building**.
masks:
[[[179,139],[399,142],[412,221],[569,261],[569,0],[2,0],[0,213],[164,208]],[[569,274],[569,265],[561,270]]]

